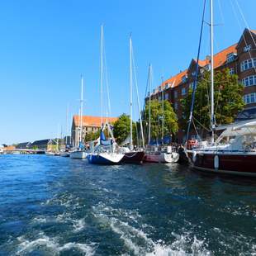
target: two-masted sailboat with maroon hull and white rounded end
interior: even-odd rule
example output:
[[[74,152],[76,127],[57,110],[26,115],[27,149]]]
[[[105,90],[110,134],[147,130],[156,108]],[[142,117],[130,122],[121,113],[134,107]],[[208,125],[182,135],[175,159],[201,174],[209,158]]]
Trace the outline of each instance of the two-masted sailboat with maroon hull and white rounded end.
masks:
[[[145,162],[149,163],[178,163],[179,154],[173,151],[172,146],[164,145],[164,116],[162,118],[162,143],[163,145],[150,145],[151,141],[151,87],[152,65],[149,64],[149,135],[148,145],[145,147]],[[162,92],[162,108],[164,111],[164,95]]]

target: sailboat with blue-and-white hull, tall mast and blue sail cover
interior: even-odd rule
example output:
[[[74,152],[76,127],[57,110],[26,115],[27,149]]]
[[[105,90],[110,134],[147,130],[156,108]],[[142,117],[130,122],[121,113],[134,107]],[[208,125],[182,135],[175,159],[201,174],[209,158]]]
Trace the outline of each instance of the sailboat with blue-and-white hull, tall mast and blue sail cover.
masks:
[[[88,154],[90,164],[121,164],[124,155],[118,150],[118,145],[112,134],[112,128],[108,121],[103,124],[103,26],[101,26],[101,133],[97,145]],[[106,139],[104,131],[107,129],[110,139]]]

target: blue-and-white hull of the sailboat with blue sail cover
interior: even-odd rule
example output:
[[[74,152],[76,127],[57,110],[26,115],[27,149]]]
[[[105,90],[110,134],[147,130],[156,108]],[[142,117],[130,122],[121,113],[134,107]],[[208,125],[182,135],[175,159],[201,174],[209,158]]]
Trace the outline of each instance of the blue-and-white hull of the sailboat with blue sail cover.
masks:
[[[88,154],[88,163],[102,165],[121,164],[123,157],[124,154],[115,153]]]

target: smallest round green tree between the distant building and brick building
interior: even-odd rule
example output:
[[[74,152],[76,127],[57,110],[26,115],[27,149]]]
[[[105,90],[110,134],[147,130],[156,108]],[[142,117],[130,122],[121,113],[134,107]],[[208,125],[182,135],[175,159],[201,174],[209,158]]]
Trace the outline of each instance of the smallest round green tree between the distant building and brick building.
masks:
[[[136,125],[132,124],[132,135],[135,143],[136,138]],[[121,144],[130,135],[130,116],[122,114],[118,117],[118,120],[114,123],[113,135],[117,144]]]

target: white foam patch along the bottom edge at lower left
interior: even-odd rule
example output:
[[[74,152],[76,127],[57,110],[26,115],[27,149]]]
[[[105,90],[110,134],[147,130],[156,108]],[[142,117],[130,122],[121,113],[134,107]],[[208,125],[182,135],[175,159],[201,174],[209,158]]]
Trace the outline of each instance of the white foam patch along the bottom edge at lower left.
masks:
[[[24,236],[18,237],[19,249],[17,250],[17,255],[31,253],[33,249],[38,247],[45,247],[50,249],[53,255],[58,255],[60,252],[69,249],[78,249],[85,255],[94,255],[95,244],[80,244],[80,243],[67,243],[60,245],[55,238],[50,238],[49,236],[40,233],[40,238],[35,240],[27,240]]]

